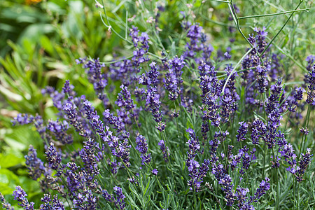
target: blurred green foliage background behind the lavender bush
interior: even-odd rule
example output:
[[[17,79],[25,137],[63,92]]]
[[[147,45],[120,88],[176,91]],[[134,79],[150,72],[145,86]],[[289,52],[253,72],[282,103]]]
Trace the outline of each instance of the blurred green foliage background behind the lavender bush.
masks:
[[[113,28],[125,36],[126,11],[128,26],[137,25],[141,31],[151,31],[146,20],[154,15],[157,6],[165,6],[160,14],[158,27],[166,50],[172,52],[172,44],[185,42],[179,37],[183,29],[180,22],[186,15],[195,15],[205,32],[209,34],[216,50],[232,48],[233,57],[241,57],[248,47],[244,38],[236,31],[233,34],[228,20],[229,10],[225,3],[216,1],[151,1],[151,13],[144,13],[136,1],[105,1],[107,15]],[[239,16],[279,13],[293,10],[298,1],[262,0],[234,1],[239,7]],[[187,3],[193,4],[190,10]],[[301,80],[304,59],[315,52],[314,2],[304,1],[300,8],[308,12],[295,13],[281,31],[273,45],[286,55],[281,61],[293,80]],[[110,33],[103,25],[95,1],[63,0],[16,0],[0,1],[0,192],[12,202],[15,186],[22,186],[29,200],[39,200],[42,193],[39,184],[29,179],[24,156],[30,144],[38,148],[43,157],[41,138],[31,125],[12,127],[10,120],[18,113],[39,113],[43,118],[55,118],[52,103],[41,94],[46,85],[61,88],[64,80],[71,79],[78,94],[93,94],[84,69],[76,65],[79,57],[99,57],[110,61],[118,56],[129,56],[132,46]],[[272,38],[281,28],[289,14],[264,18],[240,20],[244,34],[253,33],[254,27],[267,27]],[[172,17],[172,18],[170,18]],[[129,34],[129,33],[128,33]],[[172,38],[169,38],[171,36]],[[230,43],[230,38],[236,38]],[[173,43],[174,41],[174,43]],[[127,50],[126,50],[127,49]],[[176,49],[180,50],[180,49]],[[176,51],[175,50],[175,51]],[[151,48],[160,55],[158,48]],[[297,71],[295,71],[297,70]],[[15,203],[15,202],[13,202]]]

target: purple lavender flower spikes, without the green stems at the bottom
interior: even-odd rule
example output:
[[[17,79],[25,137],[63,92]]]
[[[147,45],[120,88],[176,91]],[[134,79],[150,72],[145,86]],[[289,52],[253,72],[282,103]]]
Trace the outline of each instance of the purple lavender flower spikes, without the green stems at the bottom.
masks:
[[[234,8],[238,10],[237,6]],[[302,107],[305,105],[302,102],[303,93],[306,92],[304,88],[307,88],[306,104],[315,106],[314,57],[307,58],[309,73],[304,87],[295,87],[295,91],[286,97],[288,90],[282,85],[282,66],[279,63],[281,55],[267,53],[269,49],[266,49],[265,27],[255,28],[256,35],[249,35],[248,41],[253,48],[241,62],[241,78],[238,78],[239,75],[230,62],[231,48],[212,57],[214,48],[207,44],[203,28],[189,22],[183,23],[183,26],[187,29],[188,40],[185,52],[169,60],[154,60],[148,64],[150,38],[146,33],[139,36],[137,27],[130,29],[134,45],[132,59],[113,62],[108,66],[109,71],[104,70],[106,66],[99,59],[77,60],[86,69],[87,79],[94,87],[97,100],[102,102],[102,108],[97,107],[97,101],[90,102],[84,95],[79,97],[73,85],[66,80],[62,92],[53,87],[46,87],[42,91],[51,97],[58,111],[57,120],[48,120],[45,123],[41,116],[27,114],[19,114],[13,120],[14,124],[34,124],[44,142],[46,161],[37,157],[33,146],[29,147],[29,153],[25,156],[29,175],[40,181],[45,193],[53,190],[62,196],[58,198],[56,194],[52,198],[45,194],[41,199],[41,209],[64,209],[64,206],[98,209],[102,208],[104,202],[116,209],[128,209],[132,202],[128,202],[130,197],[123,193],[127,192],[124,181],[137,188],[143,185],[139,179],[145,175],[146,178],[153,176],[152,179],[160,184],[160,179],[166,174],[161,165],[167,165],[167,171],[168,165],[175,169],[174,157],[185,158],[184,166],[176,162],[176,170],[187,168],[188,175],[181,176],[181,179],[186,179],[187,187],[194,195],[203,190],[207,192],[203,185],[204,180],[216,181],[221,186],[227,206],[254,209],[255,203],[271,188],[267,177],[263,177],[255,190],[245,187],[247,173],[251,169],[251,163],[259,158],[255,155],[261,144],[265,144],[270,152],[274,152],[274,149],[278,152],[271,157],[271,167],[281,169],[281,162],[285,162],[288,172],[293,174],[297,182],[303,181],[312,160],[311,150],[307,148],[304,153],[300,151],[300,160],[297,160],[293,146],[281,132],[281,120],[287,111],[302,116]],[[260,55],[262,52],[265,54]],[[219,67],[215,66],[214,61],[225,62],[227,65],[223,71],[218,71]],[[148,71],[143,72],[142,69]],[[188,79],[188,83],[199,83],[201,92],[194,87],[187,88],[189,85],[184,81],[191,76],[187,69],[198,69],[199,78]],[[220,75],[223,79],[218,76],[221,72],[224,72]],[[238,79],[241,80],[241,89],[244,91],[242,100],[246,104],[246,111],[239,110],[241,94],[237,89]],[[113,80],[120,81],[121,85],[116,102],[110,103],[106,91],[116,90],[114,83],[111,83]],[[165,103],[167,99],[174,106],[179,104],[184,111],[169,114],[171,109]],[[195,109],[197,106],[200,109]],[[202,123],[193,125],[201,127],[202,141],[195,132],[197,127],[194,127],[195,131],[189,128],[186,130],[186,153],[179,153],[174,141],[180,139],[178,144],[183,146],[185,141],[181,139],[180,127],[191,127],[193,120],[190,120],[188,126],[186,122],[178,123],[177,118],[191,118],[193,113],[202,118]],[[237,125],[237,113],[240,113],[239,116],[244,115],[246,122],[239,122],[237,134],[230,135],[235,133],[235,128],[232,127],[231,130],[230,125]],[[253,113],[255,118],[251,117]],[[265,113],[265,118],[262,113]],[[153,116],[153,119],[148,116]],[[294,123],[294,119],[292,122]],[[157,130],[151,135],[148,126],[153,123]],[[168,139],[172,135],[167,133],[167,123],[172,129],[176,126],[179,132],[173,139]],[[78,132],[80,138],[74,138],[76,135],[71,134],[71,127]],[[148,133],[141,133],[145,131]],[[307,127],[301,128],[301,132],[305,136],[309,134]],[[162,140],[156,138],[158,135]],[[234,139],[237,141],[235,144]],[[73,141],[80,141],[82,148],[71,148]],[[251,144],[247,144],[248,142]],[[234,148],[238,150],[235,152]],[[157,166],[160,173],[158,169],[151,167],[155,165],[153,158],[165,160],[165,163],[161,161],[161,165]],[[133,173],[135,170],[137,173]],[[121,179],[124,174],[129,178]],[[174,176],[173,172],[172,175]],[[111,181],[117,185],[109,188],[113,183],[104,183],[108,181],[103,179],[104,176],[111,176]],[[174,177],[172,179],[175,185],[179,181]],[[160,188],[164,192],[164,188]],[[250,192],[255,193],[250,195]],[[13,196],[23,209],[34,209],[34,203],[27,200],[27,194],[20,186]],[[4,197],[1,195],[0,198],[3,207],[10,209],[10,204]]]

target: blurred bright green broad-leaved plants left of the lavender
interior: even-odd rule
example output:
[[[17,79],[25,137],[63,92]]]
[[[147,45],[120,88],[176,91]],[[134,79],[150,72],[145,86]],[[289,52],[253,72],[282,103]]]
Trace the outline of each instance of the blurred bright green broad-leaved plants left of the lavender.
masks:
[[[35,196],[35,199],[40,191],[36,183],[27,178],[24,156],[29,144],[38,148],[39,153],[43,153],[43,146],[34,130],[29,130],[29,127],[12,127],[10,119],[17,115],[17,111],[33,115],[39,113],[45,119],[54,118],[52,104],[44,103],[41,89],[48,84],[58,86],[60,79],[68,77],[88,85],[87,80],[80,79],[80,74],[84,71],[73,66],[73,59],[85,55],[87,49],[89,53],[92,52],[90,46],[103,45],[103,49],[110,47],[105,47],[108,43],[104,34],[99,32],[99,36],[96,36],[89,32],[90,29],[97,31],[94,25],[99,25],[100,30],[103,27],[98,13],[91,10],[84,13],[81,1],[49,1],[36,6],[22,5],[22,1],[1,1],[0,4],[1,45],[6,46],[1,48],[1,55],[7,54],[0,57],[1,168],[10,170],[3,171],[1,192],[10,194],[15,186],[26,187],[25,183],[31,183],[27,190],[34,192],[29,193],[29,196]],[[85,31],[78,33],[79,27],[85,28]],[[7,38],[10,38],[8,45]],[[8,50],[8,47],[12,50]],[[94,50],[92,54],[98,56],[99,48]],[[102,52],[104,53],[106,51]],[[73,71],[76,72],[75,75],[70,73]],[[83,90],[86,93],[88,88],[83,87]],[[15,158],[16,161],[8,164],[6,161],[10,158]],[[16,175],[20,181],[10,179]],[[39,199],[40,197],[38,201]]]

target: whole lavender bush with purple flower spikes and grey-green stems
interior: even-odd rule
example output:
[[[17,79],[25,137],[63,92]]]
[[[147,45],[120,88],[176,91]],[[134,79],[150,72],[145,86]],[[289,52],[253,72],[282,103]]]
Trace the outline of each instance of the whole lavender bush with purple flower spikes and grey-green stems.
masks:
[[[14,118],[15,125],[33,124],[45,145],[45,160],[33,146],[25,156],[45,193],[40,209],[255,209],[270,201],[270,191],[276,198],[266,206],[281,209],[280,188],[297,190],[290,207],[300,205],[312,160],[305,147],[314,56],[307,57],[302,85],[290,90],[265,27],[247,37],[250,46],[235,64],[232,50],[216,52],[200,24],[181,26],[186,45],[173,57],[153,54],[153,36],[130,27],[132,57],[76,60],[94,98],[78,95],[66,80],[62,90],[42,90],[57,120]],[[289,134],[301,139],[299,148]],[[286,189],[283,176],[293,180]],[[13,195],[23,209],[34,209],[20,186]]]

